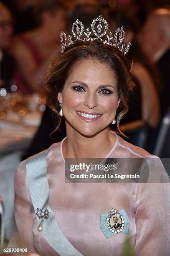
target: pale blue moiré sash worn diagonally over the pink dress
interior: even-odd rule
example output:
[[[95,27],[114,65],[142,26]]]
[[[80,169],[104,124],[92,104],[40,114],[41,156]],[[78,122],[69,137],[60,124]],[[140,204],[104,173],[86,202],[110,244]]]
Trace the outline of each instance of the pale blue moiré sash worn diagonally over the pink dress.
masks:
[[[51,210],[48,205],[49,186],[47,179],[46,151],[42,151],[28,158],[26,161],[26,169],[30,195],[35,212],[37,208],[41,208],[43,211],[47,208],[48,211],[51,212],[48,219],[43,221],[43,230],[41,232],[44,238],[61,256],[83,256],[71,245],[66,236],[63,235],[55,220],[53,210]],[[41,219],[39,219],[37,215],[36,217],[38,228]]]

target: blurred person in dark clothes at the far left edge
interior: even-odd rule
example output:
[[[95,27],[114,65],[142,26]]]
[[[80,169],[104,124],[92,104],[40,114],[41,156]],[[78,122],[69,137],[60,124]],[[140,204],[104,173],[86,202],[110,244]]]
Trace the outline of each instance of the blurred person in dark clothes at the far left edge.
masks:
[[[12,34],[13,17],[8,8],[0,2],[0,88],[10,89],[15,62],[8,52]]]

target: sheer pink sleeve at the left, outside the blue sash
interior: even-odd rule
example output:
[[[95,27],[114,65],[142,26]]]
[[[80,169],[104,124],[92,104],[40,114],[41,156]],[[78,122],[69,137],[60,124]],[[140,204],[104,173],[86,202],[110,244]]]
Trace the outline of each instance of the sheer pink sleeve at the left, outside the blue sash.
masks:
[[[15,222],[16,230],[8,247],[28,248],[29,253],[36,253],[33,245],[33,218],[30,213],[30,198],[26,175],[26,161],[19,164],[14,179],[15,187]],[[37,254],[38,255],[38,254]]]

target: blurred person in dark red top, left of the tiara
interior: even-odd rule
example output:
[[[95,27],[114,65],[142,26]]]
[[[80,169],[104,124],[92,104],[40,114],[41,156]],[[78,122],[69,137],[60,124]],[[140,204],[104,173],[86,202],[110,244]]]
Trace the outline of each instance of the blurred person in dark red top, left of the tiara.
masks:
[[[16,36],[11,53],[18,70],[15,83],[22,94],[44,90],[44,74],[60,54],[60,31],[65,28],[65,6],[56,0],[39,0],[34,8],[38,27]]]

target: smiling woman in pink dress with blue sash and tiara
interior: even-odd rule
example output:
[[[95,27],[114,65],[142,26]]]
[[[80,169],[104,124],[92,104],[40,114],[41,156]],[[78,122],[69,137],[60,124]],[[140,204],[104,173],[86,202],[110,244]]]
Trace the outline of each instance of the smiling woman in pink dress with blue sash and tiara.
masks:
[[[15,237],[30,252],[120,256],[129,233],[137,256],[169,255],[169,184],[65,182],[65,159],[82,158],[145,159],[149,174],[169,182],[157,156],[112,131],[128,111],[130,69],[124,54],[99,38],[77,40],[53,60],[48,105],[57,128],[64,118],[67,136],[23,161],[15,176]],[[115,217],[119,229],[112,228]]]

